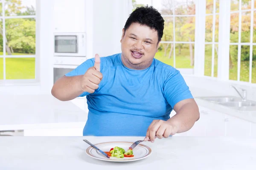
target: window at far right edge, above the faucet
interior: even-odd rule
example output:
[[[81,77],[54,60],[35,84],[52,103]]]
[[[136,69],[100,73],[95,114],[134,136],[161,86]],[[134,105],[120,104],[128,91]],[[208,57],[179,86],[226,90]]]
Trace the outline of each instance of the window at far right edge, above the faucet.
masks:
[[[256,83],[256,0],[231,0],[229,79]]]

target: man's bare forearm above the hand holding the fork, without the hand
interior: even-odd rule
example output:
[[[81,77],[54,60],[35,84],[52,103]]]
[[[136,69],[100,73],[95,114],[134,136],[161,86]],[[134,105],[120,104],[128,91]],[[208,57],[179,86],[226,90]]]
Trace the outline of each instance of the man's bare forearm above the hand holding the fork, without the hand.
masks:
[[[183,105],[175,116],[172,116],[167,122],[177,126],[177,133],[182,133],[191,129],[199,117],[198,106],[194,102],[191,102]]]

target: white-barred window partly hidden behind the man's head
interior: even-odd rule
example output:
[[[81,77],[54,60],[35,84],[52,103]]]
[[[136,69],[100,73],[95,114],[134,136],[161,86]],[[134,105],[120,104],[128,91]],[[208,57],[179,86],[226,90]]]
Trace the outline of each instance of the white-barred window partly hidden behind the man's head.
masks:
[[[133,8],[154,6],[165,20],[156,59],[193,74],[195,44],[195,0],[132,0]]]

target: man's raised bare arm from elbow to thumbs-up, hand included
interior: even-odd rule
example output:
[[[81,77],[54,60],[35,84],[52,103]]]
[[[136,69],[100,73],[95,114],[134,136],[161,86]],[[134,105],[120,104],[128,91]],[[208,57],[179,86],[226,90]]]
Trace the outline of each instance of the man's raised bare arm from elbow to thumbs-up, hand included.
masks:
[[[101,80],[100,57],[96,54],[93,67],[88,68],[84,74],[76,73],[73,76],[63,76],[58,79],[52,87],[52,96],[61,101],[68,101],[84,92],[92,94],[99,88]]]

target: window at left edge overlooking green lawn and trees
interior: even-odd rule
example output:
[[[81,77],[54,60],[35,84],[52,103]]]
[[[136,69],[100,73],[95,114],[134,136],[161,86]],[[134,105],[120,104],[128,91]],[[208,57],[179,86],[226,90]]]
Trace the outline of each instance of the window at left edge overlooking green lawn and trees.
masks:
[[[36,0],[0,1],[0,81],[35,81],[35,16]]]

